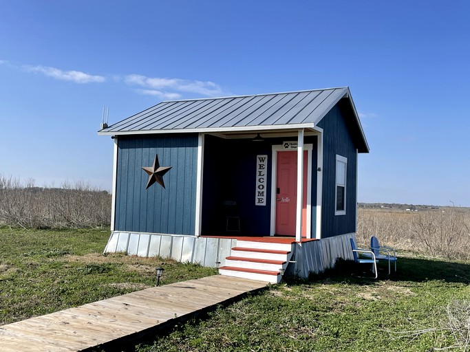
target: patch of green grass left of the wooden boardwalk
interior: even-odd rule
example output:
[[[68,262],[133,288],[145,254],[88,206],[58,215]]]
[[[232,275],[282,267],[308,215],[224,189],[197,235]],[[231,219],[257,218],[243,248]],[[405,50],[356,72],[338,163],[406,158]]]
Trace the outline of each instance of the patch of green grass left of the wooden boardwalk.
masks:
[[[156,285],[215,274],[199,265],[103,255],[109,230],[0,228],[0,325]]]

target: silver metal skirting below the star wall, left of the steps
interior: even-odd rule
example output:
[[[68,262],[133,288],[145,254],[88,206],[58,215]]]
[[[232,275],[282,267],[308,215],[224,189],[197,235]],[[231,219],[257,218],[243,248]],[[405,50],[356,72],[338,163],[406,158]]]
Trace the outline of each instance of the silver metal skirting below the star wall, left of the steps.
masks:
[[[147,234],[136,232],[112,232],[105,253],[125,252],[136,256],[161,256],[182,263],[197,263],[215,267],[215,262],[225,265],[235,247],[235,239],[195,237],[173,234]]]

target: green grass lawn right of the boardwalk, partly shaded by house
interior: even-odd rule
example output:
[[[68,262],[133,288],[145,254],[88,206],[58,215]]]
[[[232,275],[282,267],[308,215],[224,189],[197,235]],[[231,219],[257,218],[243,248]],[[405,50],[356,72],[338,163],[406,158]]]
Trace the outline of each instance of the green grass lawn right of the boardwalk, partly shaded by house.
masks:
[[[400,258],[398,273],[381,265],[378,281],[362,270],[339,263],[314,281],[288,278],[128,351],[430,351],[460,343],[445,309],[469,298],[469,263]]]

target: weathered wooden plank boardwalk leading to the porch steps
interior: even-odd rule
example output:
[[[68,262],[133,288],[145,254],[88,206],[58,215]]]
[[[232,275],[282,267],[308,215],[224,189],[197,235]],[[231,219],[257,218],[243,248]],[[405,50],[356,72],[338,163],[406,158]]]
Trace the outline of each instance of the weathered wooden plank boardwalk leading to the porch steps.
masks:
[[[84,351],[158,333],[265,282],[223,275],[151,287],[0,327],[1,352]]]

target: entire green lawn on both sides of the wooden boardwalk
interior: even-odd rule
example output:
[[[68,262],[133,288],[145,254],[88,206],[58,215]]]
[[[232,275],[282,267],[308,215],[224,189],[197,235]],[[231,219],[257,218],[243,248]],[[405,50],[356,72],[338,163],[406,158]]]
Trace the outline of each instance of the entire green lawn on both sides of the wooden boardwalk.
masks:
[[[0,229],[0,324],[155,285],[162,259],[104,256],[108,235]],[[215,274],[167,260],[164,268],[163,284]],[[378,280],[367,269],[339,262],[310,281],[286,277],[122,351],[431,351],[462,344],[447,309],[469,305],[469,262],[401,256],[398,272],[388,276],[383,263]]]

